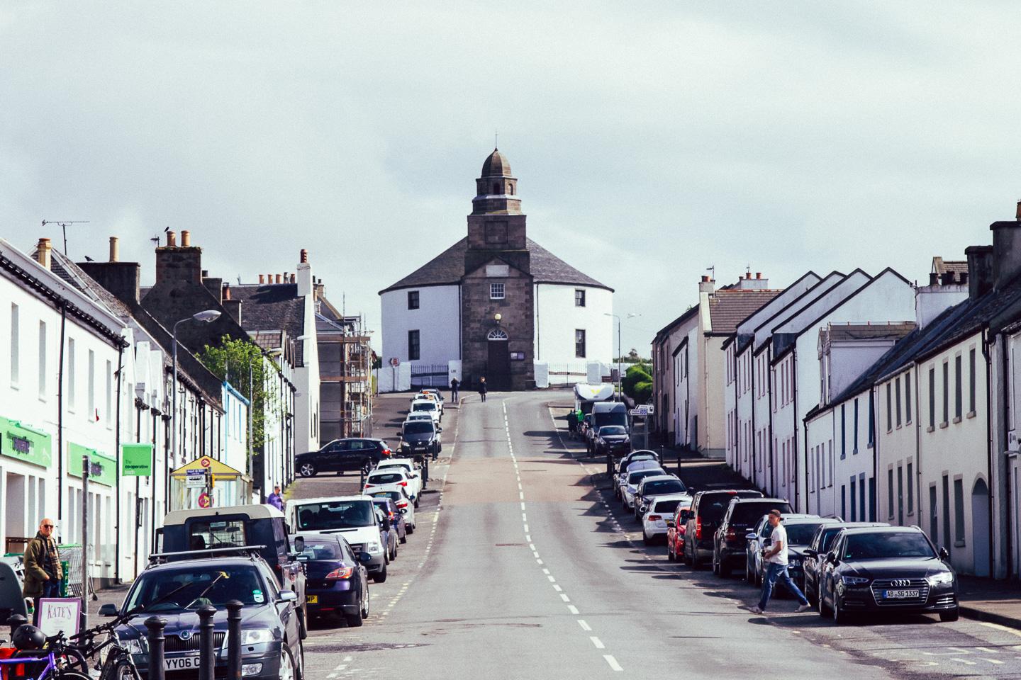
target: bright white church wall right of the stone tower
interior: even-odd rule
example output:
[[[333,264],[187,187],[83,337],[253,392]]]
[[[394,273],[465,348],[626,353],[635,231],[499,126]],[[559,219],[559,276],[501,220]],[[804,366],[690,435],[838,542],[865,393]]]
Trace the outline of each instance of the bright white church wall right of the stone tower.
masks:
[[[585,292],[584,307],[575,305],[579,290]],[[613,311],[614,294],[605,289],[536,283],[535,360],[548,363],[550,370],[576,361],[575,330],[584,329],[585,359],[610,363],[617,356],[617,320],[606,316]]]

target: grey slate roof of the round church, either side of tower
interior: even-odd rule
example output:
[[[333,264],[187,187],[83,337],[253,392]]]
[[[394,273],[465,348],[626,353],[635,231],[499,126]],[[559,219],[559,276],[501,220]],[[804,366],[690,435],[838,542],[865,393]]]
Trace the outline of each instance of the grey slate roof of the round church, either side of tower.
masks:
[[[526,246],[531,255],[532,278],[536,283],[589,285],[613,292],[609,285],[578,271],[531,239],[527,240]],[[380,295],[399,289],[459,283],[461,276],[465,275],[465,252],[467,250],[468,237],[465,237],[407,276],[380,291]]]

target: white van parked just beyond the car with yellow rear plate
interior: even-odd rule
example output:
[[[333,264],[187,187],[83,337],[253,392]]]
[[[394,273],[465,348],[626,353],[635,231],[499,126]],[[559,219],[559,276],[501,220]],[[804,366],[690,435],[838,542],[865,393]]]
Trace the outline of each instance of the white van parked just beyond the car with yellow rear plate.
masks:
[[[371,496],[292,500],[287,502],[287,515],[297,533],[343,534],[373,580],[377,583],[386,580],[386,552]],[[362,561],[362,553],[369,554],[368,561]]]

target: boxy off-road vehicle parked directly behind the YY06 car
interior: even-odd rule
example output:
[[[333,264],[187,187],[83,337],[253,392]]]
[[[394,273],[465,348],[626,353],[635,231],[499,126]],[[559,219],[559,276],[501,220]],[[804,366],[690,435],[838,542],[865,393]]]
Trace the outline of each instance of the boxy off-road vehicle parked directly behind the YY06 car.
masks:
[[[282,512],[268,505],[226,506],[197,510],[175,510],[163,517],[158,535],[167,561],[187,560],[196,551],[225,554],[246,545],[256,546],[270,565],[278,584],[296,597],[301,637],[308,634],[305,609],[305,570],[297,561],[287,538],[287,520]]]

